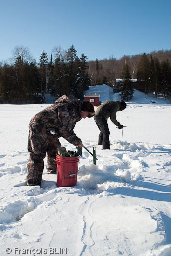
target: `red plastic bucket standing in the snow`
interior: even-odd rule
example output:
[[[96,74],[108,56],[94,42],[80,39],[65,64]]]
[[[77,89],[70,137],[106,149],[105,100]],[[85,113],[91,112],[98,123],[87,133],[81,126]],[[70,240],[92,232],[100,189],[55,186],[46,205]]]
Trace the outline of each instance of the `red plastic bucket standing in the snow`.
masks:
[[[56,156],[57,164],[57,187],[76,186],[78,163],[80,156],[63,157]]]

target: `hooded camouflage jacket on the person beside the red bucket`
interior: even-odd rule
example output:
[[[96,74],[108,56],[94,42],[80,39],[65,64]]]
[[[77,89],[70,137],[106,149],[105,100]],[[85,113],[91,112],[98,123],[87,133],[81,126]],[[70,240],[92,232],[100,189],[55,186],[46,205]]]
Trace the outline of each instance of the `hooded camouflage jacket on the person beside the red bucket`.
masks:
[[[53,130],[55,135],[51,136],[63,137],[77,146],[81,139],[76,136],[73,129],[76,122],[81,120],[81,105],[80,100],[74,102],[63,95],[54,105],[36,114],[30,121],[29,129],[41,139],[46,139],[51,134],[50,130]]]

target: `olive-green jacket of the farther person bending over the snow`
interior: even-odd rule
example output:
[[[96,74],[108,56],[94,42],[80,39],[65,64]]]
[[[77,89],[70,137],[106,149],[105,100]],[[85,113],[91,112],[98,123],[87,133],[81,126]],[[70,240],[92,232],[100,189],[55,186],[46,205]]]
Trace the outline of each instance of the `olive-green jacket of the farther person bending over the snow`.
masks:
[[[97,108],[95,115],[103,116],[106,119],[110,117],[111,121],[118,126],[120,123],[116,120],[116,113],[120,107],[120,101],[106,101]]]

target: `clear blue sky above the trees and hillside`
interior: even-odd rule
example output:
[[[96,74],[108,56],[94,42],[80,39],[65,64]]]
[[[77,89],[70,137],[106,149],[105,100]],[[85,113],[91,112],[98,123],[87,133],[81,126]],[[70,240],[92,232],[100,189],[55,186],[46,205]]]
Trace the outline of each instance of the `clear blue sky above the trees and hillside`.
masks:
[[[171,0],[0,0],[0,61],[55,46],[88,60],[171,49]]]

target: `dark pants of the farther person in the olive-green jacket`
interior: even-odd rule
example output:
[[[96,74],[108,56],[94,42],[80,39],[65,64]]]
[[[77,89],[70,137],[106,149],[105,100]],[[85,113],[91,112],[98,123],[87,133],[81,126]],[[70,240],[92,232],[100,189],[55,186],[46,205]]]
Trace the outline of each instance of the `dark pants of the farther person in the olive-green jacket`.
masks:
[[[100,130],[98,145],[102,145],[103,149],[110,149],[110,131],[106,119],[103,116],[94,115],[94,120]]]

